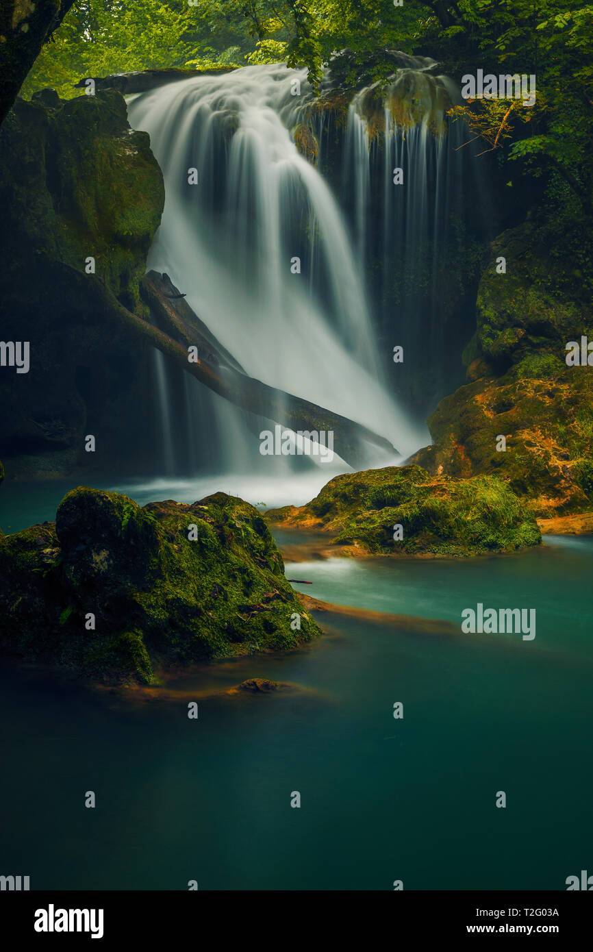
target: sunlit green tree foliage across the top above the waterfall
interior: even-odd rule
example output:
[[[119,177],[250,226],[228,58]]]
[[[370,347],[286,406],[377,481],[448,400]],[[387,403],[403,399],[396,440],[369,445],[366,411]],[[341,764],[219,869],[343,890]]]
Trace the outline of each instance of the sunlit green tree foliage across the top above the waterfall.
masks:
[[[478,68],[534,74],[537,102],[466,102],[485,150],[540,175],[557,169],[590,211],[593,5],[566,0],[75,0],[49,36],[22,94],[62,96],[89,76],[159,67],[287,62],[319,89],[385,81],[392,50],[433,56],[458,81]]]

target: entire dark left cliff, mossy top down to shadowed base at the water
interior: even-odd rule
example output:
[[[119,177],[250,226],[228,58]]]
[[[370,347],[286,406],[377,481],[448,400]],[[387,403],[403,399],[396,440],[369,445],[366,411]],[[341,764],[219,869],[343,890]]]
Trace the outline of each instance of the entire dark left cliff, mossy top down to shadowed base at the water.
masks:
[[[30,342],[29,372],[0,375],[0,451],[11,476],[62,475],[89,462],[84,436],[93,427],[109,443],[115,405],[120,418],[122,407],[126,415],[141,406],[145,355],[109,326],[79,279],[92,258],[122,304],[142,307],[138,280],[163,178],[148,134],[129,129],[115,91],[63,102],[44,90],[17,101],[0,130],[0,168],[3,338]]]

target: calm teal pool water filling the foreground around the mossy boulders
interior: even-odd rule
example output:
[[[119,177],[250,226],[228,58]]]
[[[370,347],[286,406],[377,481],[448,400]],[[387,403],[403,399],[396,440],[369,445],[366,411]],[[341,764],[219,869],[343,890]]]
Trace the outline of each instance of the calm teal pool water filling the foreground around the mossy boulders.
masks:
[[[52,519],[69,486],[7,488],[15,531]],[[298,687],[200,699],[197,721],[186,693],[120,704],[3,666],[3,871],[40,889],[565,888],[593,862],[592,572],[584,537],[469,562],[287,565],[319,599],[447,624],[320,615],[306,650],[174,685]],[[478,602],[535,608],[535,640],[463,635]]]

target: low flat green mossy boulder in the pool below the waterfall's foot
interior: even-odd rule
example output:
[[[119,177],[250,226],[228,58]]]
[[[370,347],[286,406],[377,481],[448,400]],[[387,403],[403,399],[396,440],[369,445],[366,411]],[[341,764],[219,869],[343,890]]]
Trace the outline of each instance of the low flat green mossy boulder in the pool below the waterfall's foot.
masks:
[[[306,506],[270,510],[287,526],[318,528],[332,545],[373,555],[466,557],[539,545],[535,518],[491,476],[430,476],[421,466],[386,466],[330,480]],[[394,526],[403,538],[394,539]]]

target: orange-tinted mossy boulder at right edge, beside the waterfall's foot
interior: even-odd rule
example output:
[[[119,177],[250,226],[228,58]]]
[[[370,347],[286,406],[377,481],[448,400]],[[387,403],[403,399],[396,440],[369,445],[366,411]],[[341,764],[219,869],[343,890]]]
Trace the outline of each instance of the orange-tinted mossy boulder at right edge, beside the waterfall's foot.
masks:
[[[557,357],[525,357],[503,377],[445,397],[428,417],[434,444],[413,461],[433,473],[495,473],[542,517],[593,507],[593,376]],[[504,436],[505,449],[497,449]]]

